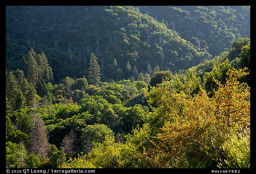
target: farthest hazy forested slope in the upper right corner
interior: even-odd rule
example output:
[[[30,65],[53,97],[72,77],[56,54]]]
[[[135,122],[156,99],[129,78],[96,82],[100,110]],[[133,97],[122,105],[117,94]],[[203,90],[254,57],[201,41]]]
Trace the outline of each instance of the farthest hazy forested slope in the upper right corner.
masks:
[[[212,57],[238,37],[250,38],[250,6],[138,6]]]

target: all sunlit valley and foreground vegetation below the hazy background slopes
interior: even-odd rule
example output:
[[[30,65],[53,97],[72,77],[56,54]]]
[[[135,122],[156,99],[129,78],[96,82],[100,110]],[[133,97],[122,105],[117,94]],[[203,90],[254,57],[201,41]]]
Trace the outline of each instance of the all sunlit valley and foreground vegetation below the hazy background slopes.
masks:
[[[250,168],[250,39],[188,70],[55,83],[33,48],[6,71],[7,168]],[[113,66],[116,62],[113,62]]]

